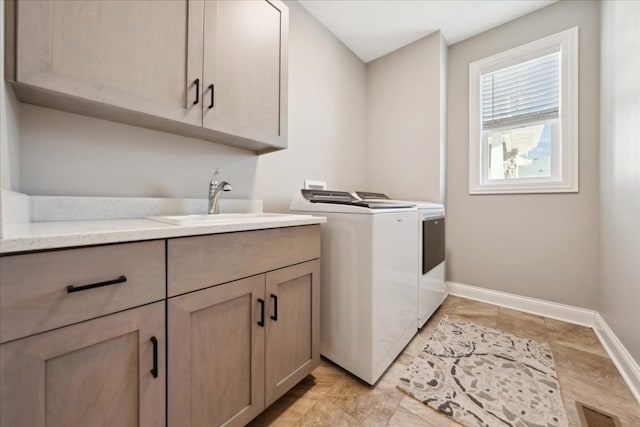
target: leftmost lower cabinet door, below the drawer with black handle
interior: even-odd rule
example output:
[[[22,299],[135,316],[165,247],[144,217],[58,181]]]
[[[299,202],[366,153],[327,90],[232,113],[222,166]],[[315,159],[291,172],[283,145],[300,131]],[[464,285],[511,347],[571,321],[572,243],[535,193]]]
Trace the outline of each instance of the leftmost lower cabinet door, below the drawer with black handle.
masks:
[[[157,302],[0,345],[0,425],[163,425],[164,307]]]

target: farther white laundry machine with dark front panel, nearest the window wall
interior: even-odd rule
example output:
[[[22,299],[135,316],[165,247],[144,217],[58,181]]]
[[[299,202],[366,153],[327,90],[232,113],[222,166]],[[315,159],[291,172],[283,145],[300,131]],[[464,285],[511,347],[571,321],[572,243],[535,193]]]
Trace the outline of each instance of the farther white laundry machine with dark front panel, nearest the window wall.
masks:
[[[357,191],[363,201],[388,201],[383,193]],[[439,203],[406,201],[418,209],[418,329],[422,328],[446,297],[445,273],[445,216],[444,206]]]

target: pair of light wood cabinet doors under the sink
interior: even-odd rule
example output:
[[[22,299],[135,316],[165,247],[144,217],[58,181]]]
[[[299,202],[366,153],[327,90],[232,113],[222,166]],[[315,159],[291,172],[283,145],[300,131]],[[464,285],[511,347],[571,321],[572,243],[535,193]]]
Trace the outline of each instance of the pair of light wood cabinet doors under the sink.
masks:
[[[319,364],[319,267],[169,299],[169,426],[243,426]]]

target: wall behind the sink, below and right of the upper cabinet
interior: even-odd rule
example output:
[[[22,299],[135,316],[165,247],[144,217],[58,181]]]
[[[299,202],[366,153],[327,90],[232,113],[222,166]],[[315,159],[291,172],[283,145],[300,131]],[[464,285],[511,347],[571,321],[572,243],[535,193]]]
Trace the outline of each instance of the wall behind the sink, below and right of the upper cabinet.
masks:
[[[296,2],[290,8],[289,149],[247,151],[20,105],[20,186],[32,195],[205,198],[216,167],[229,198],[285,211],[305,178],[363,187],[365,65]]]

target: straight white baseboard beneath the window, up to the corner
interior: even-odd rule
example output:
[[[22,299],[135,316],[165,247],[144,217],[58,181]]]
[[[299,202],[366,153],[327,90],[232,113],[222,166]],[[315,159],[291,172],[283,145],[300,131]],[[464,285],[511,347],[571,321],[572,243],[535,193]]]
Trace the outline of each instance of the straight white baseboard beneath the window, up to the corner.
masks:
[[[524,311],[525,313],[537,314],[538,316],[562,320],[563,322],[574,323],[589,328],[593,327],[595,315],[597,314],[594,310],[523,297],[507,292],[493,291],[491,289],[456,282],[447,282],[447,291],[450,295],[512,308],[514,310]]]

